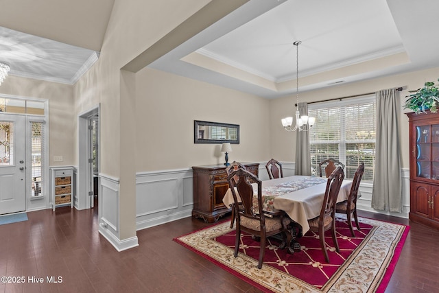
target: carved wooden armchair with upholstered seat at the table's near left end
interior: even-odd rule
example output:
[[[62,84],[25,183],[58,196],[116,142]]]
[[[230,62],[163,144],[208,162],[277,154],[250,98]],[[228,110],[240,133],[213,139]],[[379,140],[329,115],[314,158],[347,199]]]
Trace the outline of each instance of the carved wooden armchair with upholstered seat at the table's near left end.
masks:
[[[237,176],[237,180],[236,177]],[[289,244],[289,235],[287,235],[287,225],[291,222],[285,211],[263,211],[262,202],[262,182],[254,174],[239,168],[227,177],[230,190],[232,191],[233,200],[235,201],[236,215],[236,237],[235,237],[235,257],[238,256],[239,244],[241,242],[241,232],[250,233],[260,238],[259,263],[258,268],[262,268],[263,257],[265,255],[265,243],[267,237],[282,233],[283,244]],[[257,204],[253,206],[254,191],[252,184],[257,185]],[[236,187],[236,190],[235,190]],[[238,200],[238,196],[240,200]],[[265,216],[269,215],[269,216]],[[270,218],[271,217],[271,218]]]

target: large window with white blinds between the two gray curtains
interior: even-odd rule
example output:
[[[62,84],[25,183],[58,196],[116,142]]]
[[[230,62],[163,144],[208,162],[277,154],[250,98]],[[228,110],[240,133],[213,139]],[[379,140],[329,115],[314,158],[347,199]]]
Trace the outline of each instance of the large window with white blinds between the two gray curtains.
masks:
[[[359,163],[364,162],[362,180],[373,180],[375,167],[375,95],[359,99],[310,104],[308,114],[316,117],[309,132],[311,169],[318,176],[318,163],[338,159],[346,165],[345,178],[353,179]]]

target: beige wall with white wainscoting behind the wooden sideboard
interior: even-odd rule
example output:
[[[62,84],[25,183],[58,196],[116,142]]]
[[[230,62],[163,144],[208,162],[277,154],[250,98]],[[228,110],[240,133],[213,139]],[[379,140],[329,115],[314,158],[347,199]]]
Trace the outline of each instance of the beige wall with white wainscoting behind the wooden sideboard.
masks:
[[[224,163],[220,144],[193,142],[193,120],[239,124],[229,161],[261,161],[264,178],[268,99],[149,68],[137,73],[136,89],[137,229],[191,216],[191,166]]]

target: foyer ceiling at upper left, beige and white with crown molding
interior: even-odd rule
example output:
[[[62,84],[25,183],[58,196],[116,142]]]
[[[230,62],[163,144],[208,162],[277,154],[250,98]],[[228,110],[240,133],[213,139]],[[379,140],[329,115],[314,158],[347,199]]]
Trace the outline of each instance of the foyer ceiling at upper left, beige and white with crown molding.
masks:
[[[114,0],[5,0],[0,62],[10,75],[74,84],[99,57]]]

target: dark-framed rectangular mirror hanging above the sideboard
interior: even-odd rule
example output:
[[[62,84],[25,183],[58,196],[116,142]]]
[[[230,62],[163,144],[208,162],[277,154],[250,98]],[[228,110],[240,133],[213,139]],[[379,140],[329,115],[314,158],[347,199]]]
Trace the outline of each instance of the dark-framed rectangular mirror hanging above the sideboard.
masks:
[[[194,143],[239,143],[239,125],[193,121]]]

